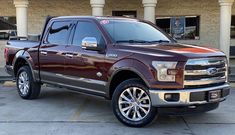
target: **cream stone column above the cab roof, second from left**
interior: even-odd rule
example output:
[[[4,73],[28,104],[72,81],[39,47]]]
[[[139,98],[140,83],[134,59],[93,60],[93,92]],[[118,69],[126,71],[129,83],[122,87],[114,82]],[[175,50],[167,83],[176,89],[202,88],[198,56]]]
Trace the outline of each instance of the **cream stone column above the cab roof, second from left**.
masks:
[[[105,0],[90,0],[93,16],[103,16]]]

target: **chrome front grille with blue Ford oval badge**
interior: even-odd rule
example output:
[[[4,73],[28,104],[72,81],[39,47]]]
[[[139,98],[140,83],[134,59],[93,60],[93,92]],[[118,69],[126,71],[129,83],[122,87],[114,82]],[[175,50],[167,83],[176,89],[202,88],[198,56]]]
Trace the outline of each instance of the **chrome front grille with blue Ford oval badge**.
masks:
[[[226,58],[190,59],[184,71],[184,86],[198,87],[227,81]]]

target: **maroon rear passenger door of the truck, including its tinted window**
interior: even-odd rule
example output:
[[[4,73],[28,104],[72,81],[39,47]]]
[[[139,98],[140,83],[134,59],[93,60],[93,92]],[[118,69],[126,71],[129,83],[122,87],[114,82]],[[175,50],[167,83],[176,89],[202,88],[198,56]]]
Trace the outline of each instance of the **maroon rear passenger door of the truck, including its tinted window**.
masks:
[[[46,32],[39,50],[40,75],[43,82],[63,83],[65,47],[71,34],[73,22],[53,21]]]

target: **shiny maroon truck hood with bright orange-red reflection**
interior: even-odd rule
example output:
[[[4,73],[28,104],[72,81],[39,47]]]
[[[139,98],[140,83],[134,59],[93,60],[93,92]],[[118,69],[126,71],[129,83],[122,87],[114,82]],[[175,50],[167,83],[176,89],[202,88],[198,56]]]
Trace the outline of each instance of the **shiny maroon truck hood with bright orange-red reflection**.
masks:
[[[125,47],[124,47],[125,46]],[[153,45],[124,45],[124,50],[136,54],[158,56],[169,60],[182,60],[207,57],[225,57],[218,49],[187,45],[180,43],[153,44]],[[130,47],[131,46],[131,47]],[[130,50],[131,49],[131,50]]]

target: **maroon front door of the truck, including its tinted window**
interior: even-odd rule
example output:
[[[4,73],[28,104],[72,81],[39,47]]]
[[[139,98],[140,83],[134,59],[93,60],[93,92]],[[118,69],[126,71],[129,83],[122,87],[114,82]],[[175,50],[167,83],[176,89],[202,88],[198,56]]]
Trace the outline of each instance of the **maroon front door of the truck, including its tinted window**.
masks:
[[[96,38],[98,45],[104,46],[105,40],[95,22],[79,20],[74,30],[71,46],[67,49],[73,54],[72,59],[66,59],[65,75],[68,82],[81,90],[92,94],[104,94],[104,51],[86,50],[82,48],[82,40],[86,37]]]

